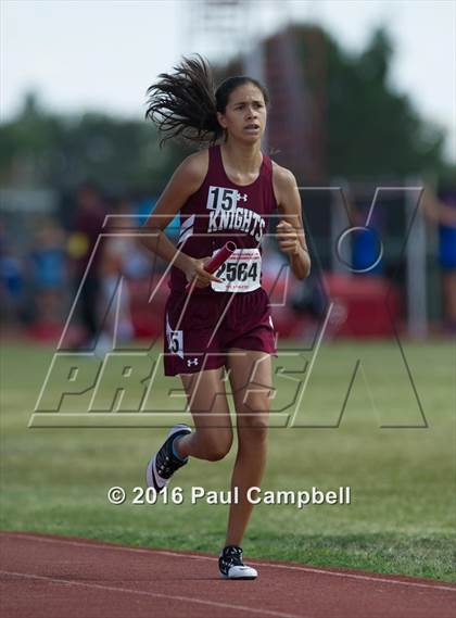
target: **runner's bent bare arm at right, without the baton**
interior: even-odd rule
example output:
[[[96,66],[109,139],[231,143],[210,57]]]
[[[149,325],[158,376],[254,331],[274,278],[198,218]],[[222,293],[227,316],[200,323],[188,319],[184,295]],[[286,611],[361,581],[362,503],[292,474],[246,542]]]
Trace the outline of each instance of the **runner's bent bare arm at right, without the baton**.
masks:
[[[311,273],[311,256],[305,240],[296,179],[289,169],[275,164],[273,184],[281,215],[277,225],[277,240],[280,250],[288,254],[293,275],[297,279],[305,279]]]

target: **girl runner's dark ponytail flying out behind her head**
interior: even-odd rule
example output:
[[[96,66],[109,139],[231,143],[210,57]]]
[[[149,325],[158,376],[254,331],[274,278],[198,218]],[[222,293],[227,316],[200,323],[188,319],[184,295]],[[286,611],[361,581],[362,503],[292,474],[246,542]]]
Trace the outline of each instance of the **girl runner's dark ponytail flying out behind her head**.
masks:
[[[162,73],[148,88],[145,118],[153,121],[163,138],[182,137],[198,143],[214,143],[223,128],[217,121],[214,80],[207,62],[199,54],[183,58],[175,73]]]

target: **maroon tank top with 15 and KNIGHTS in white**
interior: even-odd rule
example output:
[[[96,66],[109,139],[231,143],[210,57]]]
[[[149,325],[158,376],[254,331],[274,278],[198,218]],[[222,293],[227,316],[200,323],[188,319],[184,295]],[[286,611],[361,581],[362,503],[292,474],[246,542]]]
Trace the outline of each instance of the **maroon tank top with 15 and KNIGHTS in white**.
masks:
[[[177,243],[191,257],[207,257],[228,240],[239,249],[258,248],[268,230],[269,218],[277,211],[273,189],[273,162],[263,154],[256,180],[236,185],[225,173],[219,146],[208,149],[208,168],[203,184],[180,210]],[[173,266],[169,287],[185,291],[187,279]],[[212,292],[211,287],[200,290]]]

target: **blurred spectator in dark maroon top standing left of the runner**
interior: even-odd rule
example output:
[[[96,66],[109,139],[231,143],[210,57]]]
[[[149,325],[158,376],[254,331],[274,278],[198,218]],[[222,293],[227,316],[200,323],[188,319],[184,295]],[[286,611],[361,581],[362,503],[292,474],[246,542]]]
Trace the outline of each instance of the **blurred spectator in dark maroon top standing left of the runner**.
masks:
[[[85,339],[79,346],[93,346],[100,327],[100,250],[93,252],[105,216],[103,200],[93,185],[81,186],[76,194],[76,212],[72,234],[68,238],[68,253],[76,291],[83,281],[77,307],[85,327]],[[88,268],[89,266],[89,268]],[[87,274],[86,274],[87,270]]]

